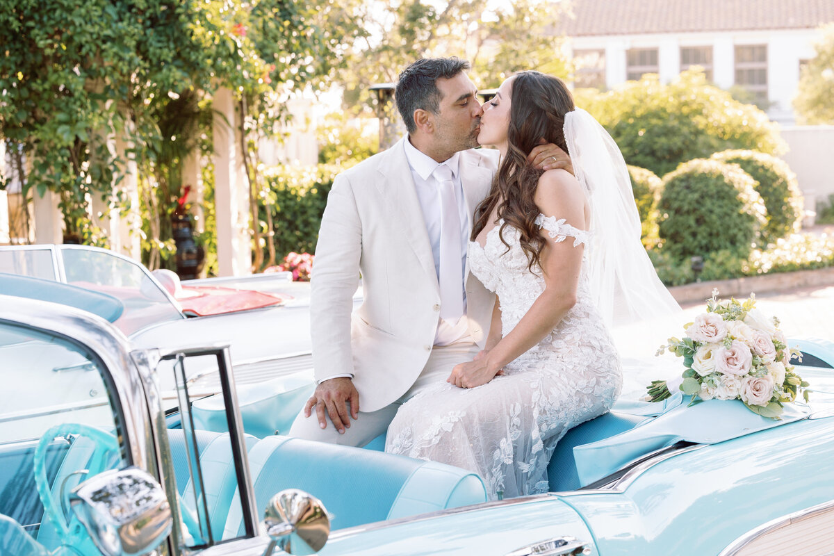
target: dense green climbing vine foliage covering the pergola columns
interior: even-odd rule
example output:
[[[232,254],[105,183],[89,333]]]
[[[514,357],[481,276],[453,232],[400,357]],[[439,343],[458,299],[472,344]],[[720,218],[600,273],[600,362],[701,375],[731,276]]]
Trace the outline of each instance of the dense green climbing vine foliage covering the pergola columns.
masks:
[[[356,30],[333,2],[0,0],[0,136],[23,145],[28,187],[60,193],[68,232],[86,243],[101,243],[88,198],[123,174],[108,139],[127,140],[148,177],[153,249],[165,239],[153,218],[181,193],[178,164],[196,138],[210,148],[210,95],[234,91],[254,143],[290,93],[328,85]]]

